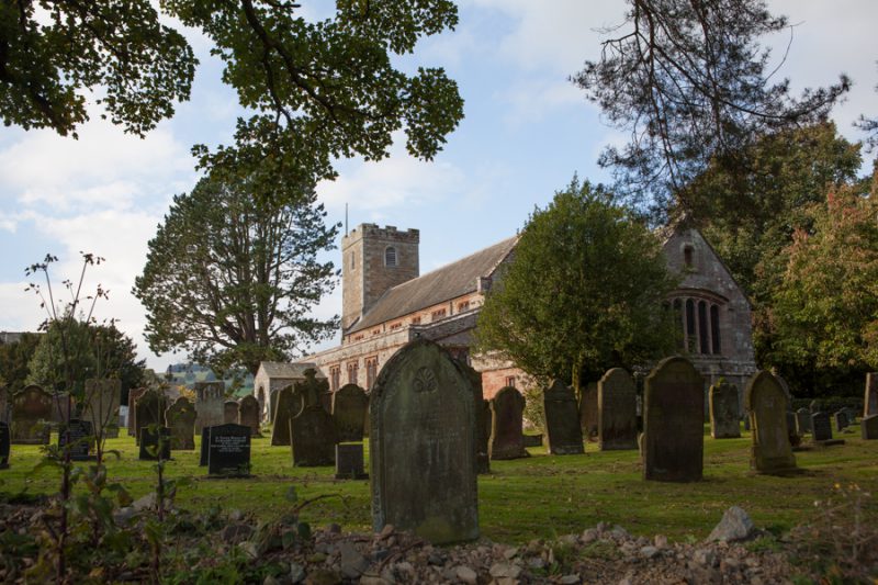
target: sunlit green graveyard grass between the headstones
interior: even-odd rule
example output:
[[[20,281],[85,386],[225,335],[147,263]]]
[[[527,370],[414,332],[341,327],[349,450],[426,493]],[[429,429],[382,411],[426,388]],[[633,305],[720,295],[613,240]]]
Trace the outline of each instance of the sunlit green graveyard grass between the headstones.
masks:
[[[778,477],[750,472],[748,431],[740,439],[718,440],[706,426],[703,480],[688,484],[644,482],[637,451],[599,452],[588,443],[583,455],[547,455],[544,448],[529,448],[532,457],[492,461],[492,473],[479,476],[481,532],[517,544],[582,532],[605,521],[638,536],[701,540],[725,509],[738,505],[757,527],[780,533],[812,518],[814,502],[829,497],[835,484],[853,483],[878,494],[878,441],[864,441],[855,430],[836,434],[847,441],[844,446],[796,452],[802,473]],[[315,527],[336,522],[346,531],[371,530],[368,481],[337,481],[333,468],[293,468],[290,448],[271,447],[264,435],[251,443],[251,479],[207,479],[206,468],[198,465],[200,437],[194,451],[173,451],[166,475],[194,480],[180,490],[177,506],[239,509],[268,520],[291,506],[284,495],[294,485],[300,503],[324,494],[341,496],[307,506],[303,520]],[[119,439],[108,441],[108,449],[121,454],[108,457],[110,481],[121,481],[135,498],[155,490],[155,463],[137,460],[134,439],[124,429]],[[33,472],[40,460],[38,446],[12,446],[11,466],[0,472],[0,498],[54,493],[57,472]],[[865,511],[878,521],[875,499]]]

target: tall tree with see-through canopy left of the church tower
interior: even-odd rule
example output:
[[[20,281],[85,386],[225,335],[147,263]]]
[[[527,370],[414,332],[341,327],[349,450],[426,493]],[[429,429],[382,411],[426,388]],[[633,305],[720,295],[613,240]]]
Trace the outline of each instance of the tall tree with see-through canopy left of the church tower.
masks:
[[[335,333],[337,318],[311,310],[335,285],[333,263],[317,255],[334,247],[338,226],[325,225],[312,190],[263,187],[214,176],[175,198],[133,291],[154,351],[255,374],[260,361],[290,359]]]

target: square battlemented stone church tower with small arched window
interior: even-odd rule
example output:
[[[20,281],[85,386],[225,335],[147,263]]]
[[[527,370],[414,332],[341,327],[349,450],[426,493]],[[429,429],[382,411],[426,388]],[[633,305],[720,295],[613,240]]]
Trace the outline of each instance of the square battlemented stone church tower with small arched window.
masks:
[[[341,330],[347,331],[387,289],[419,275],[420,232],[360,224],[341,238]]]

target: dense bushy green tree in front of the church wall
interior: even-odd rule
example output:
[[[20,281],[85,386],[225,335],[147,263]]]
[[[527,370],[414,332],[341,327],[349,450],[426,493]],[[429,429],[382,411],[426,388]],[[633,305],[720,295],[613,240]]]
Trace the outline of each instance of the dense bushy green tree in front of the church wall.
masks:
[[[531,375],[579,386],[675,347],[663,303],[675,278],[658,236],[600,187],[577,179],[531,214],[486,295],[477,347]]]

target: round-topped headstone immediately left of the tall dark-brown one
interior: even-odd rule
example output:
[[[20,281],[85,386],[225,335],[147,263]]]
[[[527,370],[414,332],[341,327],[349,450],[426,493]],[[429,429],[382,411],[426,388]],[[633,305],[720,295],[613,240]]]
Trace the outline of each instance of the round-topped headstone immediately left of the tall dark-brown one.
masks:
[[[638,448],[638,391],[624,369],[607,371],[597,383],[597,432],[601,451]]]

